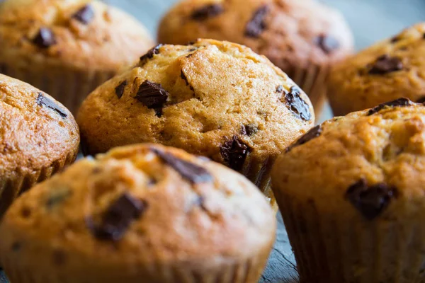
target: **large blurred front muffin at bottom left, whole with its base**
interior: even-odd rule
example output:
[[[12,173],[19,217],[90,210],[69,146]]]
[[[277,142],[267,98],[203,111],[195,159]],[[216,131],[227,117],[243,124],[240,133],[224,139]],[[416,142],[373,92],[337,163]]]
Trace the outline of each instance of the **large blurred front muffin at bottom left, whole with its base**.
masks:
[[[135,145],[78,161],[20,197],[0,226],[0,261],[13,283],[256,283],[275,232],[244,176]]]

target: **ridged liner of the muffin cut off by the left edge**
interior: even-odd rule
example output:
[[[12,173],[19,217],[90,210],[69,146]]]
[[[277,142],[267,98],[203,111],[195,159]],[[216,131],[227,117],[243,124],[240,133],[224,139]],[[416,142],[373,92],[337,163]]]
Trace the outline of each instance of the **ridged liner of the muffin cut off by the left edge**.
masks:
[[[30,189],[36,183],[50,178],[53,174],[59,172],[65,166],[74,162],[77,158],[78,151],[73,151],[67,156],[54,161],[50,166],[43,167],[31,173],[23,173],[16,171],[13,178],[3,178],[0,180],[0,219],[4,215],[13,200],[22,192]],[[0,236],[1,237],[1,236]]]

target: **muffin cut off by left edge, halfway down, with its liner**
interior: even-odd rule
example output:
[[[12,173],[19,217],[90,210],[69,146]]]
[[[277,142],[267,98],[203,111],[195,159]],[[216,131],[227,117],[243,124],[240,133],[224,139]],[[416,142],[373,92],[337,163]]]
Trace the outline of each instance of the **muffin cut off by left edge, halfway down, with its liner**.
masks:
[[[1,74],[0,126],[1,219],[21,192],[75,160],[79,129],[55,99]]]

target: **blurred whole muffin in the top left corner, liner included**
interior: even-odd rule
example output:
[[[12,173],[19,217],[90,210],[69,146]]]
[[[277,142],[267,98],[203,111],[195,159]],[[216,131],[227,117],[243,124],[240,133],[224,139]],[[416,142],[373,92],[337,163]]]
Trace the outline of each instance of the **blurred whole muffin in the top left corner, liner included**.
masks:
[[[0,73],[75,112],[81,101],[154,45],[127,13],[89,0],[0,1]]]

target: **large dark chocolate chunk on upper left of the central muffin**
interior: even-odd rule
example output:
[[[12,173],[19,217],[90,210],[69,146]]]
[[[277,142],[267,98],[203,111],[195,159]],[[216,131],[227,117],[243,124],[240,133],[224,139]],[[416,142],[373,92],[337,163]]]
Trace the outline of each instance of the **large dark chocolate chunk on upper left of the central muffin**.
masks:
[[[136,99],[147,108],[154,109],[156,115],[162,114],[162,108],[166,103],[169,93],[162,88],[161,84],[152,81],[144,81],[136,93]]]

